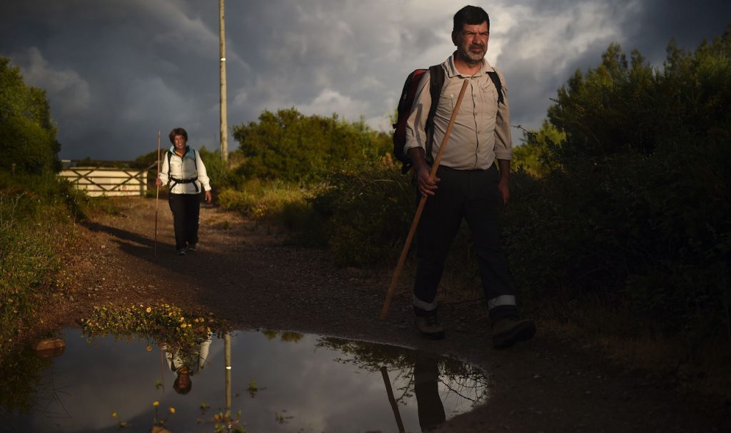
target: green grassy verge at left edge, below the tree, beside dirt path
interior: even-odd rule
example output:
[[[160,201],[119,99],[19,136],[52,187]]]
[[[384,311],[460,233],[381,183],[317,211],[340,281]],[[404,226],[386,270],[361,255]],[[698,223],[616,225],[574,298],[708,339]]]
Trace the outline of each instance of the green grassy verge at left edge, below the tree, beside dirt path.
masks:
[[[58,253],[73,240],[71,222],[96,206],[54,175],[0,172],[0,358],[64,290]]]

